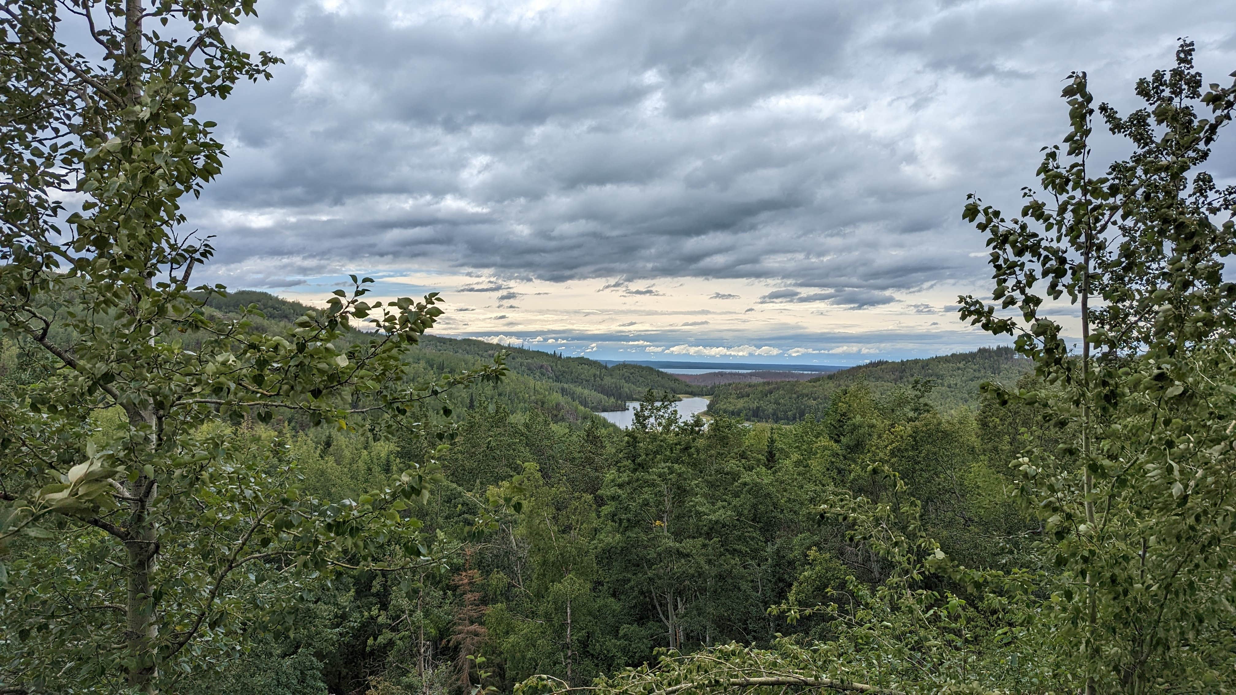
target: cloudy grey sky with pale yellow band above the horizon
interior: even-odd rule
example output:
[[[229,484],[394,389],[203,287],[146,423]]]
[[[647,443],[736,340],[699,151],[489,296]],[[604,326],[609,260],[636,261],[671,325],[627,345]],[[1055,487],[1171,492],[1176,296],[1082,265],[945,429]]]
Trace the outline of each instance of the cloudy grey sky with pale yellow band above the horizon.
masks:
[[[367,275],[381,298],[441,292],[436,334],[598,359],[997,344],[955,313],[990,291],[960,211],[1020,207],[1069,72],[1128,111],[1178,37],[1208,83],[1236,69],[1216,0],[257,10],[232,38],[286,64],[201,108],[229,158],[185,210],[215,235],[200,279],[318,303]],[[1209,169],[1236,178],[1236,148]]]

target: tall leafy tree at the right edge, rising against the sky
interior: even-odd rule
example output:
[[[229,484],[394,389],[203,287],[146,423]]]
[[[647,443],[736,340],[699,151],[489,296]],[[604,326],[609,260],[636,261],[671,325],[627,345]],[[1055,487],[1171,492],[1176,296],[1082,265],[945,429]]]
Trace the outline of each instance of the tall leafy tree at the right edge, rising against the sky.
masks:
[[[1023,451],[1018,495],[1044,522],[1060,632],[1090,693],[1213,690],[1236,663],[1236,187],[1196,171],[1236,85],[1203,94],[1193,49],[1137,83],[1142,109],[1099,106],[1132,147],[1106,176],[1091,174],[1093,96],[1074,73],[1067,147],[1044,150],[1021,218],[965,209],[989,234],[1000,307],[963,297],[963,317],[1016,336],[1041,382],[996,397],[1069,434]],[[1051,318],[1063,296],[1080,308],[1080,355]]]

